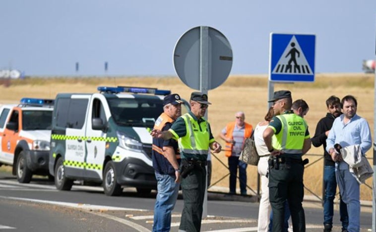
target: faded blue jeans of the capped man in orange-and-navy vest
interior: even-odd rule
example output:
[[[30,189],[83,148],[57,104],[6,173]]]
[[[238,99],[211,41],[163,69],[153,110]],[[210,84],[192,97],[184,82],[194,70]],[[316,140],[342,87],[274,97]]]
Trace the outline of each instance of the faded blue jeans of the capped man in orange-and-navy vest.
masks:
[[[179,184],[175,176],[155,172],[158,181],[158,193],[154,207],[153,232],[169,232],[171,229],[171,212],[175,207],[179,193]]]

